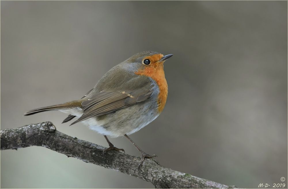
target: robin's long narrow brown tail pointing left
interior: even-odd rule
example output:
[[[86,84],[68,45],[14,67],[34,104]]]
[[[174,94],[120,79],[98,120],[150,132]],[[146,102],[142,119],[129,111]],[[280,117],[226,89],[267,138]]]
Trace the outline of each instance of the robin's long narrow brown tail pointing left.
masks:
[[[63,104],[56,104],[56,105],[52,105],[52,106],[45,106],[45,107],[41,107],[41,108],[35,108],[33,110],[29,110],[28,112],[26,112],[24,114],[24,116],[37,114],[39,112],[55,111],[55,110],[73,108],[73,107],[82,107],[81,106],[81,102],[82,102],[81,100],[74,100],[74,101],[71,101],[71,102],[63,103]]]

